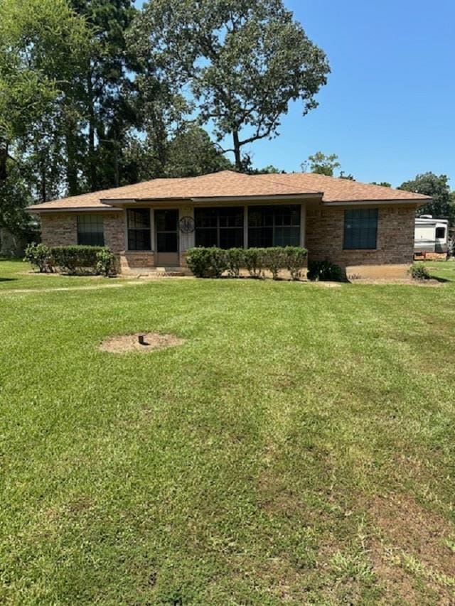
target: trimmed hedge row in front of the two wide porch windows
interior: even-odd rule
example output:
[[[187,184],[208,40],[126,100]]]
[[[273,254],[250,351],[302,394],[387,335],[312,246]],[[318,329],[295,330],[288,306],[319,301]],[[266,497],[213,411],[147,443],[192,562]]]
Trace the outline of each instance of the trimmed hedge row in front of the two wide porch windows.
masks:
[[[189,269],[197,278],[220,278],[225,271],[231,278],[240,277],[240,269],[247,269],[252,278],[263,278],[267,269],[274,280],[279,271],[287,269],[293,280],[299,280],[306,264],[307,251],[301,247],[273,247],[251,249],[193,248],[186,253]]]

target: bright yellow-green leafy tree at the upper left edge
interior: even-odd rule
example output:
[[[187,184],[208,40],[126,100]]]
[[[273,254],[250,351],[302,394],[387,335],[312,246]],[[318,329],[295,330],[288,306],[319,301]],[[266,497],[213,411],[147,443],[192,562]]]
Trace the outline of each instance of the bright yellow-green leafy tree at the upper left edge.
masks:
[[[16,139],[54,111],[86,49],[65,0],[0,0],[0,182]]]

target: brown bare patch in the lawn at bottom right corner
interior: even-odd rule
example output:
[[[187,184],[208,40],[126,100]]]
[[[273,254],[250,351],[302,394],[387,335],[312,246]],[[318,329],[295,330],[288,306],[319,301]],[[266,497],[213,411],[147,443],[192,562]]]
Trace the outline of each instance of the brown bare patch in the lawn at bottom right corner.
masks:
[[[450,522],[404,495],[377,497],[370,514],[380,531],[380,539],[370,541],[371,558],[387,595],[415,603],[424,583],[439,604],[454,604],[455,553],[446,544],[454,533]]]

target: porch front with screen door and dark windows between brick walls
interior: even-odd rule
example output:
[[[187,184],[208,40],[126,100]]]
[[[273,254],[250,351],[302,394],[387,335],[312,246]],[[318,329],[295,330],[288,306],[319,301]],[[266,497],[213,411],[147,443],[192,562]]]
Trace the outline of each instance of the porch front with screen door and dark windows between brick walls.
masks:
[[[193,247],[305,247],[306,204],[125,204],[122,271],[185,271],[186,251]]]

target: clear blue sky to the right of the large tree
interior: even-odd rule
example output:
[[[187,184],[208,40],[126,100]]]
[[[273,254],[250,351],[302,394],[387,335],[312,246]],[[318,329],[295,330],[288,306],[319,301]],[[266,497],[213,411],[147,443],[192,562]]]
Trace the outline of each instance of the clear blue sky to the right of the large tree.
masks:
[[[299,171],[321,150],[360,181],[400,185],[434,171],[455,189],[455,1],[285,4],[332,73],[317,109],[302,117],[292,106],[277,139],[250,147],[255,166]]]

